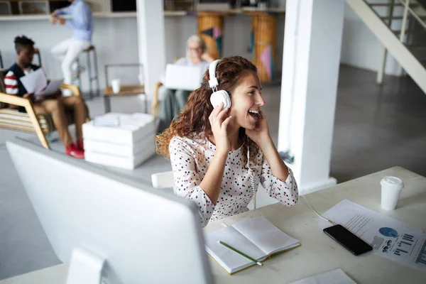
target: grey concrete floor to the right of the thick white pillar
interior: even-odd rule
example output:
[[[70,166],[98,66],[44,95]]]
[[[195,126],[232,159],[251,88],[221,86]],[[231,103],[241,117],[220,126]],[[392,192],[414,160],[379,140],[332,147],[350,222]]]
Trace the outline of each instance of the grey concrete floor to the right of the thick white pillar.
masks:
[[[409,77],[341,67],[331,175],[344,182],[400,165],[426,176],[426,94]]]

